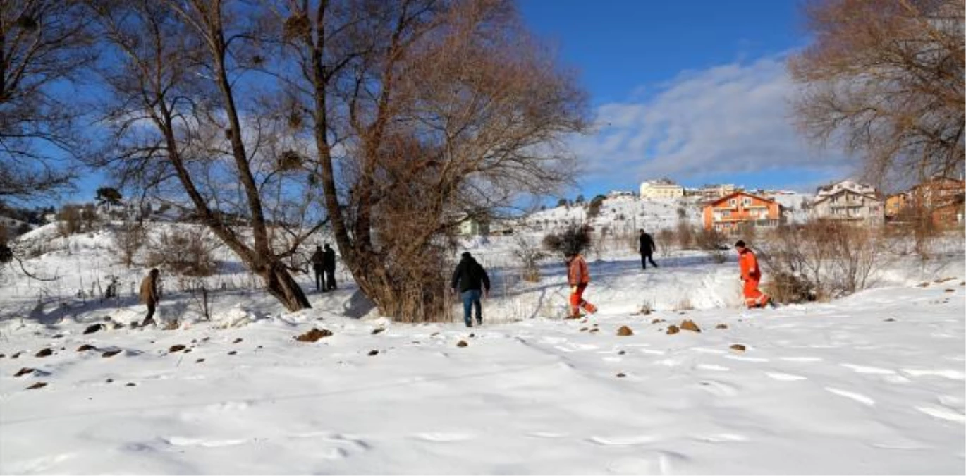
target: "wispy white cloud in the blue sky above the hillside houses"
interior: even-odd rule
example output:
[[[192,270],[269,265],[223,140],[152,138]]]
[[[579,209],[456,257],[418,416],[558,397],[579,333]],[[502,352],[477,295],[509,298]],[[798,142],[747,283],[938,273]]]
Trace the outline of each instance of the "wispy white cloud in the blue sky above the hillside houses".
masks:
[[[649,98],[601,105],[597,132],[578,139],[575,150],[589,179],[612,182],[845,173],[850,167],[842,154],[810,147],[795,131],[794,91],[781,57],[686,71]]]

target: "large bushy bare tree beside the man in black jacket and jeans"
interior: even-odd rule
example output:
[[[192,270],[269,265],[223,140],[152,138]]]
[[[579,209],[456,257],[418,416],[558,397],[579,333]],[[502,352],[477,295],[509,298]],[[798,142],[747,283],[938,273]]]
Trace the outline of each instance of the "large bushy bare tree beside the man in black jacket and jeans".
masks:
[[[281,14],[343,260],[385,315],[437,319],[455,226],[571,180],[561,139],[585,127],[582,92],[506,0],[290,0]]]

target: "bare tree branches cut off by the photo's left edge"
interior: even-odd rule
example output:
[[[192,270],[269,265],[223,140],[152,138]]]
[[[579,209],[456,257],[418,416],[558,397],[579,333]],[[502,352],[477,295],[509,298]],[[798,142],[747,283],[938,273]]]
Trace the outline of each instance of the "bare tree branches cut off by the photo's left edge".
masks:
[[[71,84],[94,58],[80,2],[0,2],[0,198],[71,182],[67,158],[85,150]]]

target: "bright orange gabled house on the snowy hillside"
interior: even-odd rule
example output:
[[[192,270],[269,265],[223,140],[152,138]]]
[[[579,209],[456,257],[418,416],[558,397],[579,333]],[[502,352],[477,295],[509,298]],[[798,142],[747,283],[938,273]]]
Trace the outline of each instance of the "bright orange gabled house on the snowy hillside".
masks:
[[[744,224],[773,227],[781,222],[781,205],[774,200],[737,191],[704,206],[704,229],[732,233]]]

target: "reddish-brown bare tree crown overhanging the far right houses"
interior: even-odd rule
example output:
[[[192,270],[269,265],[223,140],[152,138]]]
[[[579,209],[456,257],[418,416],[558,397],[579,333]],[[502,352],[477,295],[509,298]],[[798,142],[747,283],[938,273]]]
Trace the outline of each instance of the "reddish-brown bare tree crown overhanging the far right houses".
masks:
[[[815,42],[789,62],[800,126],[863,154],[882,181],[966,163],[966,2],[821,0]]]

